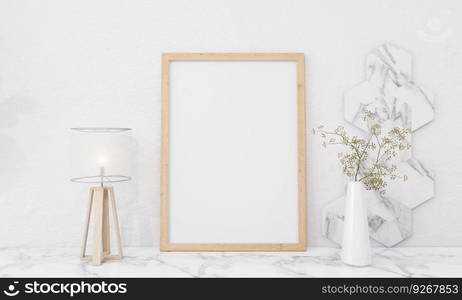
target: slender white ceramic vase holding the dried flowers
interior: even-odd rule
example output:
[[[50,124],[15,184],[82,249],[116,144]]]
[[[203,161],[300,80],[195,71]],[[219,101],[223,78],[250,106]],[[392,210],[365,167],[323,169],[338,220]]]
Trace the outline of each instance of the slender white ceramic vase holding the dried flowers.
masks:
[[[349,181],[345,198],[342,261],[352,266],[371,264],[367,203],[361,182]]]

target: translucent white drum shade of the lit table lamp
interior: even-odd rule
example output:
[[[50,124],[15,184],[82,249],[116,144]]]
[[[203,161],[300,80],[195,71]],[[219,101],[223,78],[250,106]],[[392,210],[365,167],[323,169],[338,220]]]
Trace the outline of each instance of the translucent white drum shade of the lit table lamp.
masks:
[[[72,128],[71,177],[130,176],[131,152],[129,128]]]

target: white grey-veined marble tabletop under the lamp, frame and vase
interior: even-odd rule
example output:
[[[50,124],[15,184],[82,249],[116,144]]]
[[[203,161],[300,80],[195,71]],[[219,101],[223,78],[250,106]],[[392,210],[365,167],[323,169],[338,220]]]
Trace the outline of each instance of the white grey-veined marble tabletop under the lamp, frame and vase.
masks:
[[[1,248],[1,277],[462,277],[462,248],[375,248],[368,267],[339,249],[307,252],[178,253],[126,248],[122,261],[93,266],[77,248]]]

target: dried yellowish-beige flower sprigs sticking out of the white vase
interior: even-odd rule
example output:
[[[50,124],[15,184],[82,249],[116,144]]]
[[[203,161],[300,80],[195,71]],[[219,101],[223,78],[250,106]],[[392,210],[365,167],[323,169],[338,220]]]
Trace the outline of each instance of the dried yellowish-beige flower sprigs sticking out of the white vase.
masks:
[[[370,111],[363,112],[364,121],[373,121],[375,116]],[[371,122],[372,123],[372,122]],[[313,134],[322,139],[322,146],[343,145],[345,152],[338,153],[343,173],[353,181],[362,182],[367,190],[385,193],[387,180],[397,178],[407,180],[406,175],[398,175],[397,167],[391,163],[399,151],[410,149],[407,137],[408,128],[394,127],[387,133],[382,132],[380,124],[369,126],[367,138],[350,136],[343,126],[333,131],[324,129],[323,125],[313,129]]]

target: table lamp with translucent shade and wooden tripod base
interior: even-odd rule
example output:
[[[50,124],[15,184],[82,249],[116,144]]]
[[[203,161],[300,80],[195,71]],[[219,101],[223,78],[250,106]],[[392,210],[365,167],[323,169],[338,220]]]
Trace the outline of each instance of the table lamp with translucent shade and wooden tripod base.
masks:
[[[82,241],[82,260],[100,265],[104,260],[123,257],[114,188],[108,184],[131,180],[129,150],[130,128],[71,128],[72,182],[89,183],[90,187]],[[110,217],[110,207],[112,217]],[[93,254],[86,255],[88,231],[93,211]],[[111,254],[110,218],[114,225],[117,254]]]

